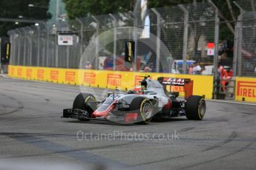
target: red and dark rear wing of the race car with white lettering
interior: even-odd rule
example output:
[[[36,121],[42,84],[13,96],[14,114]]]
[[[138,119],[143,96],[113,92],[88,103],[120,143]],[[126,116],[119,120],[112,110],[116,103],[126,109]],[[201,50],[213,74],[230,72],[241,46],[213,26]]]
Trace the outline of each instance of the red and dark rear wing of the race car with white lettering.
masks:
[[[183,86],[185,92],[185,99],[193,95],[193,81],[190,78],[168,78],[168,77],[159,77],[157,81],[160,84],[163,84],[165,88],[169,86],[169,92],[171,92],[171,86]]]

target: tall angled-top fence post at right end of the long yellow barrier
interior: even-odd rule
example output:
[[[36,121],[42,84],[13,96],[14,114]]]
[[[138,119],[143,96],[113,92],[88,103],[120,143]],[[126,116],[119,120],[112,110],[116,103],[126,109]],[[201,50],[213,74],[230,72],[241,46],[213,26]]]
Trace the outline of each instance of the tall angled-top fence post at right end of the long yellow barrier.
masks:
[[[214,3],[211,0],[208,0],[209,4],[211,4],[211,7],[214,7],[215,9],[215,29],[214,29],[214,99],[217,99],[217,91],[220,91],[221,88],[218,90],[218,72],[217,72],[217,65],[218,65],[218,50],[219,50],[219,34],[220,34],[220,18],[219,18],[219,10],[214,5]]]

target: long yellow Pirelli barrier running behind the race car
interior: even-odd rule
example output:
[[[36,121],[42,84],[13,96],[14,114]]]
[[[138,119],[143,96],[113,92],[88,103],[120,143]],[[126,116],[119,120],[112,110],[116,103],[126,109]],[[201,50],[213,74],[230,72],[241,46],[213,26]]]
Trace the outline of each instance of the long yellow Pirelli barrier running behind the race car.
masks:
[[[145,74],[151,78],[171,77],[171,78],[191,78],[194,81],[194,95],[204,95],[211,98],[213,92],[213,76],[209,75],[174,75],[153,72],[114,72],[91,69],[61,69],[46,67],[22,67],[9,66],[9,76],[13,78],[24,78],[27,80],[47,81],[59,84],[74,84],[83,86],[93,86],[99,88],[127,90],[133,89],[140,84]],[[184,95],[183,87],[174,86],[174,91],[179,91]]]

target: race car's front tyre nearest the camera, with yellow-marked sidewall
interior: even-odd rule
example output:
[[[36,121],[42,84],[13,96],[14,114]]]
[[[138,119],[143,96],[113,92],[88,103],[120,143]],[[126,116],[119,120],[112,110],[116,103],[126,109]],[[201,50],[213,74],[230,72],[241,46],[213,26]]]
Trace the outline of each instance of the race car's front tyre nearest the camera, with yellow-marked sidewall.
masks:
[[[131,101],[130,111],[137,112],[137,123],[143,124],[148,124],[154,115],[154,108],[151,101],[143,97],[137,97]]]

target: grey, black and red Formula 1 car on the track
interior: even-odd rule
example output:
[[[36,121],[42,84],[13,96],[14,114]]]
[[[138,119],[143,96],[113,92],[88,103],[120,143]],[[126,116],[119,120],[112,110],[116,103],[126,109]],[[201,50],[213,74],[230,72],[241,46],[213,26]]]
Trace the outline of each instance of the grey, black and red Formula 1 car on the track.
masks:
[[[140,86],[128,92],[109,92],[104,101],[88,93],[80,93],[72,109],[64,109],[62,118],[79,120],[109,120],[116,123],[149,123],[152,118],[186,116],[188,120],[202,120],[206,101],[191,95],[192,81],[183,78],[145,77]],[[184,86],[185,100],[179,101],[178,92],[168,92],[167,86]]]

